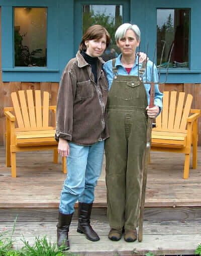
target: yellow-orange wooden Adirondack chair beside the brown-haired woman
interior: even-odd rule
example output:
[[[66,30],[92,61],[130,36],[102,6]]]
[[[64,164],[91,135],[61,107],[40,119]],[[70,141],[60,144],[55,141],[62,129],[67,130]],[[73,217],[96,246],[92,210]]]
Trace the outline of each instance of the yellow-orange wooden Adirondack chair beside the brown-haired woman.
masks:
[[[49,106],[49,93],[35,91],[35,106],[32,90],[19,91],[20,103],[16,92],[11,93],[13,107],[4,108],[7,123],[6,134],[6,165],[11,166],[12,177],[16,177],[16,152],[34,150],[54,150],[54,163],[58,162],[57,142],[54,139],[55,127],[49,126],[49,110],[56,113],[56,106]],[[28,102],[28,106],[27,106]],[[10,111],[15,111],[14,116]],[[18,127],[16,127],[16,121]],[[66,166],[63,159],[63,172]]]

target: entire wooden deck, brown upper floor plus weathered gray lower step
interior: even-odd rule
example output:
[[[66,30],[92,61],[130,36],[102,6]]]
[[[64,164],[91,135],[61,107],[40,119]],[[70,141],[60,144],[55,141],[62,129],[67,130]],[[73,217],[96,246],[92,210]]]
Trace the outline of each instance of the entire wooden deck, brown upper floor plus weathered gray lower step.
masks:
[[[144,236],[141,243],[119,242],[107,237],[109,224],[106,208],[105,163],[95,190],[91,223],[100,236],[90,242],[76,232],[77,216],[70,228],[71,252],[81,256],[144,255],[148,251],[159,254],[194,254],[201,243],[201,148],[198,168],[190,169],[184,180],[184,156],[162,152],[151,153],[148,170]],[[65,174],[61,159],[53,164],[53,153],[27,152],[17,154],[17,178],[5,167],[5,149],[0,148],[0,232],[10,231],[18,215],[14,247],[25,240],[33,244],[35,237],[47,235],[56,241],[56,222],[60,191]]]

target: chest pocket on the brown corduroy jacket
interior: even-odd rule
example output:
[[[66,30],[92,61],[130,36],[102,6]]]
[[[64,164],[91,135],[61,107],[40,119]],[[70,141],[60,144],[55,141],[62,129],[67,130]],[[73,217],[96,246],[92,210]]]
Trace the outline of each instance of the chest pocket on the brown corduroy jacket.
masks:
[[[90,80],[77,83],[76,96],[78,100],[93,97],[93,85]]]

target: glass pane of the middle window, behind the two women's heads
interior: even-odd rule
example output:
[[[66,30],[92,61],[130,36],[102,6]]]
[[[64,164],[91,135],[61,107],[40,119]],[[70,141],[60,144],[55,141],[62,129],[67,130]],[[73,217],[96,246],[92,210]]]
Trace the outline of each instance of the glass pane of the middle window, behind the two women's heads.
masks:
[[[92,25],[104,26],[111,35],[111,44],[102,55],[105,61],[115,58],[120,53],[115,42],[115,32],[123,22],[122,5],[83,5],[82,34]]]

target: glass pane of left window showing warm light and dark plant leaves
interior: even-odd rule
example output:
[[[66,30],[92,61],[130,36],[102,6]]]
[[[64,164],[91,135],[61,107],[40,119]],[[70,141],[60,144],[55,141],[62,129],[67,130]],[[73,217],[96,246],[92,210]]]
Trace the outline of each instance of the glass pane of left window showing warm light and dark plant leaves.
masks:
[[[47,66],[47,8],[14,8],[15,66]]]

